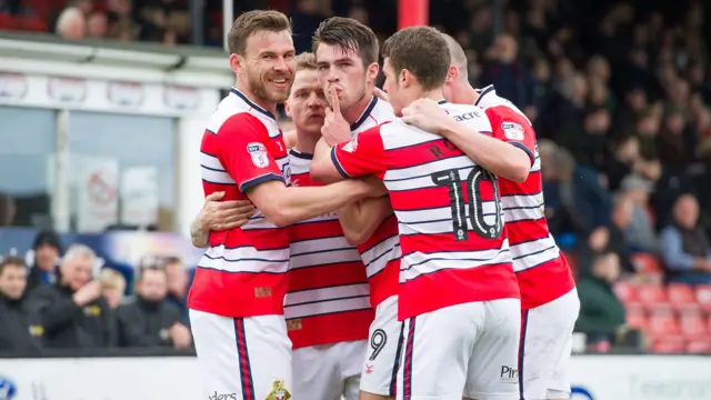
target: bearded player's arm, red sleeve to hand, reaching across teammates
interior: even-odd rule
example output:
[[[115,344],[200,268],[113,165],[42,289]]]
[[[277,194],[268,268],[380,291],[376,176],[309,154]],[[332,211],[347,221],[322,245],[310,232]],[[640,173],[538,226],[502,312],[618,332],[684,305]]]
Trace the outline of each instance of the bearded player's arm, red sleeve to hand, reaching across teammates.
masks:
[[[268,151],[269,132],[253,116],[230,117],[213,138],[227,173],[278,227],[334,211],[370,192],[370,186],[362,180],[318,188],[287,188],[281,170]]]

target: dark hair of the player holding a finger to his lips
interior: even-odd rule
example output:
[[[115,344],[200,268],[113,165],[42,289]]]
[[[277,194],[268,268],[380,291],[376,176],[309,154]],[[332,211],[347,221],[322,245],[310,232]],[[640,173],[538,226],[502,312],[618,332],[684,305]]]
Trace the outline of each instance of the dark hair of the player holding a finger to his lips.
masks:
[[[331,17],[321,22],[311,40],[314,54],[320,43],[338,46],[343,52],[357,53],[364,67],[378,62],[378,37],[372,29],[352,18]]]

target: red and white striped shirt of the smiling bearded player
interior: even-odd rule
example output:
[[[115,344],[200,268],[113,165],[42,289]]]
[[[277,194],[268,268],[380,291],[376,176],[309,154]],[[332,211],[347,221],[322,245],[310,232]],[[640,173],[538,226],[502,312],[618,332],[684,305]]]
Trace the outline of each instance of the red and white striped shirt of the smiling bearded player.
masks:
[[[290,167],[274,116],[232,89],[202,137],[200,170],[204,194],[248,199],[267,181],[289,184]],[[289,286],[289,230],[261,212],[241,228],[210,233],[210,248],[196,270],[188,307],[224,317],[283,314]]]

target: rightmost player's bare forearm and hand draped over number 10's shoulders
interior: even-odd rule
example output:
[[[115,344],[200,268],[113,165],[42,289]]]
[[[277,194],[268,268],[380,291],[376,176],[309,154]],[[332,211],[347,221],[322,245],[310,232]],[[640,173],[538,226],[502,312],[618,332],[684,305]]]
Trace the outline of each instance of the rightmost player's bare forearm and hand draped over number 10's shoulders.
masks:
[[[462,122],[458,122],[433,100],[420,99],[403,110],[402,120],[424,131],[441,134],[493,174],[523,182],[531,169],[532,153],[528,154],[521,147],[490,137],[491,122],[483,110],[479,116],[470,113]]]

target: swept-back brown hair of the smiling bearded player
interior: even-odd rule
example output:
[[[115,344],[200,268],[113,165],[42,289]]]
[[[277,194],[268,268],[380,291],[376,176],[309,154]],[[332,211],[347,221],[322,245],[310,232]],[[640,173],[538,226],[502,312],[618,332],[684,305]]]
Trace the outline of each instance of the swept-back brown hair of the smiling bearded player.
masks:
[[[259,31],[291,33],[291,23],[287,16],[273,10],[253,10],[239,16],[227,37],[231,54],[244,56],[247,39]]]

